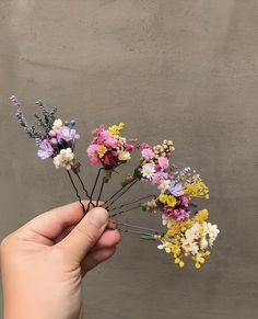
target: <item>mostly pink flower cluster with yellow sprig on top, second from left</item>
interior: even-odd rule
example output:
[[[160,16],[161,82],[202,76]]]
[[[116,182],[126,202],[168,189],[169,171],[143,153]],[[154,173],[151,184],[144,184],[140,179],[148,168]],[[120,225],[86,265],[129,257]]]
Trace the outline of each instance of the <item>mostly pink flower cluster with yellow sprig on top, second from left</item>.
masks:
[[[87,148],[93,166],[101,163],[106,170],[113,170],[131,158],[133,145],[120,136],[124,123],[105,128],[102,124],[92,132],[94,139]]]

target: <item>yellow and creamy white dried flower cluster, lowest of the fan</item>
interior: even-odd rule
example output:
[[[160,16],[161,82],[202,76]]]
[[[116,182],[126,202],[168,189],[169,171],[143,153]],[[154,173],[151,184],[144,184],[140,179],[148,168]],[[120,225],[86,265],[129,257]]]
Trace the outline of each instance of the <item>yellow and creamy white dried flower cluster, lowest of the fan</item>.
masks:
[[[159,249],[164,249],[175,259],[175,263],[183,267],[184,257],[190,257],[197,269],[210,255],[209,247],[213,246],[220,230],[216,225],[207,223],[208,210],[199,210],[192,218],[183,223],[174,221],[161,238]]]

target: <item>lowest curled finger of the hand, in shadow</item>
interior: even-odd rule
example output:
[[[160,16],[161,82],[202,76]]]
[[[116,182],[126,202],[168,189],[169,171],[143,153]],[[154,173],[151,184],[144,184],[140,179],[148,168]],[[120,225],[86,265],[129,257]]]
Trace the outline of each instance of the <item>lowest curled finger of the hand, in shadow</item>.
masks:
[[[99,263],[112,258],[115,252],[116,252],[116,247],[109,247],[109,248],[99,249],[99,250],[89,253],[81,265],[82,274],[84,275],[86,272],[89,272],[90,270],[98,265]]]

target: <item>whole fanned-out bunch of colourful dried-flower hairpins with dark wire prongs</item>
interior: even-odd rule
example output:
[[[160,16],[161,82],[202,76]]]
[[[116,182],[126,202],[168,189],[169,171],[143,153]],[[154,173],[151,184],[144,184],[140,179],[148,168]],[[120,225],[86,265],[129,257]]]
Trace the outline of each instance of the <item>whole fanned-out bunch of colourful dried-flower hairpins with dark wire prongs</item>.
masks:
[[[109,212],[108,228],[119,229],[128,233],[138,233],[141,239],[157,241],[157,248],[171,254],[175,264],[185,265],[190,258],[195,266],[200,269],[210,255],[220,230],[216,225],[208,221],[208,209],[198,209],[195,198],[209,198],[209,189],[200,174],[187,167],[181,170],[171,162],[175,150],[172,140],[163,140],[151,146],[137,139],[121,136],[125,124],[119,123],[106,128],[103,124],[92,130],[93,140],[87,147],[87,156],[92,166],[98,166],[97,174],[91,192],[87,191],[81,176],[81,162],[75,156],[75,143],[80,135],[75,130],[73,119],[62,122],[57,117],[57,107],[48,109],[42,101],[35,104],[40,109],[42,116],[35,114],[38,127],[27,123],[16,96],[10,98],[17,109],[16,117],[30,138],[35,139],[37,156],[52,159],[56,169],[63,169],[75,191],[75,195],[84,214],[90,206],[102,206]],[[139,163],[131,174],[127,174],[118,190],[107,200],[102,200],[104,186],[112,180],[112,173],[127,163],[132,156],[139,157]],[[98,181],[98,194],[95,195]],[[74,179],[89,200],[84,206]],[[116,203],[136,183],[151,183],[154,194],[141,196],[129,203]],[[96,201],[93,202],[93,198]],[[116,221],[116,216],[133,209],[161,216],[164,230],[156,230],[139,225]]]

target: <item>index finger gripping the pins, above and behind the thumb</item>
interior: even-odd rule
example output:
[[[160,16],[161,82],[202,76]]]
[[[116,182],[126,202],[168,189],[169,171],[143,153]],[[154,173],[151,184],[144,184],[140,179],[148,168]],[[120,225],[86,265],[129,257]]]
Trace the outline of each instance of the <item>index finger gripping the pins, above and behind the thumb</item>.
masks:
[[[84,201],[83,204],[86,206],[87,201]],[[31,230],[48,239],[55,239],[64,228],[78,224],[83,215],[82,206],[79,202],[75,202],[35,217],[25,224],[21,230]]]

